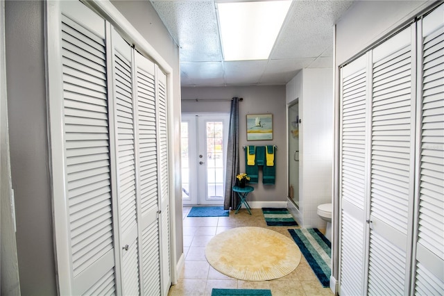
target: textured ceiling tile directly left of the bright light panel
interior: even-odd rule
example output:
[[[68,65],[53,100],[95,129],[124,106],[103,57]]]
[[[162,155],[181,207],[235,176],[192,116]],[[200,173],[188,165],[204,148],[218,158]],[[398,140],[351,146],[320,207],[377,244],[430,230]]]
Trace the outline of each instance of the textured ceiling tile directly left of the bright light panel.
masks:
[[[221,61],[221,43],[214,1],[151,1],[179,43],[180,61]]]

